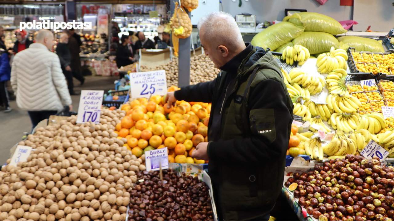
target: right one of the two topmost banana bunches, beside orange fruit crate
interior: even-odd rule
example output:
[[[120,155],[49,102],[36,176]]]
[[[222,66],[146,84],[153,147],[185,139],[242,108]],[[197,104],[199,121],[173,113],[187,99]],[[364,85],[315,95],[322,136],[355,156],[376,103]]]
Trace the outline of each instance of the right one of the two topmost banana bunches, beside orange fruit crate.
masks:
[[[346,61],[348,60],[348,55],[345,50],[337,49],[334,50],[334,47],[331,47],[330,52],[322,53],[317,57],[316,66],[318,66],[318,72],[321,74],[329,73],[332,70],[342,68],[347,69],[348,64]]]

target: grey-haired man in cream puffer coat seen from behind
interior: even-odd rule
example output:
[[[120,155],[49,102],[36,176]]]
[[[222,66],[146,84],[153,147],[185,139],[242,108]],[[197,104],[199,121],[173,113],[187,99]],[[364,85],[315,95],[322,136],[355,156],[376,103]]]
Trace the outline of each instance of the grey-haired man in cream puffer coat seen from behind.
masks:
[[[53,46],[53,33],[41,29],[36,43],[17,53],[11,68],[11,86],[17,96],[17,105],[28,110],[33,128],[41,121],[56,114],[72,100],[67,81],[60,68]]]

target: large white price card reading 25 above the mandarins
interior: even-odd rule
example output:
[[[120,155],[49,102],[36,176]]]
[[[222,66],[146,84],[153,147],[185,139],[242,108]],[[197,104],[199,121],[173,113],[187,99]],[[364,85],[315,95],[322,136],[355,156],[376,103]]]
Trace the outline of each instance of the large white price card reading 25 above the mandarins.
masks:
[[[153,94],[167,94],[165,70],[130,73],[132,98],[149,98]]]

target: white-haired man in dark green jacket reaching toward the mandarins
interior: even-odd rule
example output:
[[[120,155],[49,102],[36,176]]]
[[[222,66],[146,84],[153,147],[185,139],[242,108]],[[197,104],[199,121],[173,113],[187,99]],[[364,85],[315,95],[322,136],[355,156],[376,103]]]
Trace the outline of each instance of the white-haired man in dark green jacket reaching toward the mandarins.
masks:
[[[271,52],[244,43],[234,18],[200,19],[201,46],[221,73],[213,81],[168,92],[177,100],[212,102],[208,141],[191,157],[209,160],[219,220],[268,220],[281,194],[293,104]]]

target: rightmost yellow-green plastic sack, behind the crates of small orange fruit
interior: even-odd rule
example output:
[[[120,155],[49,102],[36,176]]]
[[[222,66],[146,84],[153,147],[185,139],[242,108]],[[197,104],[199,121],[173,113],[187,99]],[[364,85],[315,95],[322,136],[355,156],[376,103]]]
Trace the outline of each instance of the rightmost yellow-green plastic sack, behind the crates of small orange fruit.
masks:
[[[383,45],[375,39],[358,36],[342,36],[338,38],[338,41],[344,44],[348,44],[351,48],[355,48],[357,51],[360,52],[385,52]]]

